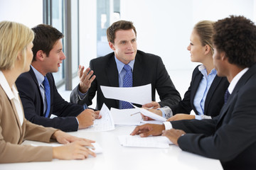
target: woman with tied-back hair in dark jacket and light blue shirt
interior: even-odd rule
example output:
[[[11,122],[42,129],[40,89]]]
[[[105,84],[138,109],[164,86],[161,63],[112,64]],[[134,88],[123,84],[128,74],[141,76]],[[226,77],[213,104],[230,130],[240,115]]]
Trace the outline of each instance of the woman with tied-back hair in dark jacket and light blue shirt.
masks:
[[[213,21],[196,23],[191,33],[191,42],[187,50],[191,53],[191,62],[201,62],[192,74],[191,84],[182,101],[176,106],[151,109],[158,115],[172,120],[211,119],[220,113],[224,104],[224,94],[228,89],[228,80],[218,77],[213,65]],[[154,103],[144,107],[154,106]],[[191,111],[196,115],[190,115]],[[144,120],[149,118],[144,116]]]

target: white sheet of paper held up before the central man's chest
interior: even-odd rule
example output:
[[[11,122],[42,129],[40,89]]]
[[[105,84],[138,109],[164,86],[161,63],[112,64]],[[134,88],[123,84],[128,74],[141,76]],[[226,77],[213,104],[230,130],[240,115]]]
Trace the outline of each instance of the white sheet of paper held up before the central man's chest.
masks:
[[[136,87],[100,86],[105,98],[144,105],[151,102],[151,84]]]

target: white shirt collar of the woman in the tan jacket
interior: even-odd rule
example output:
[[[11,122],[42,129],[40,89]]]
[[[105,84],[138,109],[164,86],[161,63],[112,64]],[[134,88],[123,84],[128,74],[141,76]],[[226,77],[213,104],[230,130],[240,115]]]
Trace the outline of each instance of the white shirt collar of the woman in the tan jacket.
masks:
[[[6,78],[4,77],[3,72],[1,72],[1,70],[0,70],[0,84],[1,84],[2,88],[4,89],[4,92],[6,93],[6,95],[8,96],[10,101],[13,98],[18,96],[18,91],[16,90],[15,86],[13,85],[10,88],[10,86],[9,86]]]

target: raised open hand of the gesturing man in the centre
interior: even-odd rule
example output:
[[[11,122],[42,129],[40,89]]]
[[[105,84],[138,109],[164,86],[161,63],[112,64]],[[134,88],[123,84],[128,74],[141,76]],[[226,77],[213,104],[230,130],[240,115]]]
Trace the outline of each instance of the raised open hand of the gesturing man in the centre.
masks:
[[[79,91],[82,94],[85,94],[90,88],[92,81],[95,79],[95,75],[92,76],[93,71],[90,71],[90,68],[87,68],[84,72],[85,67],[79,65],[78,77],[80,78],[79,82]]]

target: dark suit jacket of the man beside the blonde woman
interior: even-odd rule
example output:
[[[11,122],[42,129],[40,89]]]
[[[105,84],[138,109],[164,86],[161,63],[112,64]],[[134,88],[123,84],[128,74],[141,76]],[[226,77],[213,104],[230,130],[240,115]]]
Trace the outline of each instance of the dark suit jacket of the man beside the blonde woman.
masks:
[[[48,73],[46,77],[50,84],[50,114],[48,118],[43,115],[43,99],[33,69],[31,68],[29,72],[21,74],[16,80],[26,119],[32,123],[58,128],[65,132],[77,131],[78,121],[75,116],[84,109],[77,104],[68,103],[60,96],[55,86],[53,74]],[[51,114],[58,117],[50,119]]]

